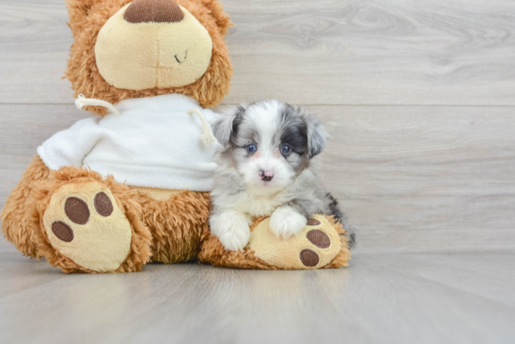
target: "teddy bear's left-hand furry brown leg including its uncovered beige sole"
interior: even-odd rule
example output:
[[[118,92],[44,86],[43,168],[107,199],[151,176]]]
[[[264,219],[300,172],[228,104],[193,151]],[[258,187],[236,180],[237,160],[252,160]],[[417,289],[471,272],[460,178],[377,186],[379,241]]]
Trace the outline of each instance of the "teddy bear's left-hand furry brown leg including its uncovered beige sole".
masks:
[[[47,195],[45,195],[47,193]],[[45,257],[65,272],[132,272],[151,255],[140,197],[113,178],[65,167],[41,184]]]

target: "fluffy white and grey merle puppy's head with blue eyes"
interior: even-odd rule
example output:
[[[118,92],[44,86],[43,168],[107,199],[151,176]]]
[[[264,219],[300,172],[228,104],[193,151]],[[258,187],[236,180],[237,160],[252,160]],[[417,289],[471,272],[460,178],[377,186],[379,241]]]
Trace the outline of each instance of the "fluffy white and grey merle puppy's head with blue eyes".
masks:
[[[277,100],[227,110],[213,133],[246,185],[265,192],[293,183],[328,137],[315,115]]]

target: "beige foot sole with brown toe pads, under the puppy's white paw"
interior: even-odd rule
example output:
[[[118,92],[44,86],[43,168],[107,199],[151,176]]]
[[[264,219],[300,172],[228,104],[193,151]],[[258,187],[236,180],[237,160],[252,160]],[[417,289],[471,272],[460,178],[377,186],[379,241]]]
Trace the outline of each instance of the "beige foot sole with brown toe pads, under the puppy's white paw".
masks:
[[[283,269],[317,269],[330,263],[341,250],[335,228],[323,215],[313,215],[297,236],[280,239],[264,219],[251,232],[249,247],[266,263]]]

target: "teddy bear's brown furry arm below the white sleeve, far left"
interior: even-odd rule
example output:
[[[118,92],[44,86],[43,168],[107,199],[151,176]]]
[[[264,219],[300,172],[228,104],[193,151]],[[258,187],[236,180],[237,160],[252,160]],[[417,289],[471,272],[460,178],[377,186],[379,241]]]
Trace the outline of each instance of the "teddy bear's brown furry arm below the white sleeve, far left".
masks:
[[[1,214],[2,231],[6,239],[12,242],[23,255],[37,259],[43,257],[38,246],[44,239],[40,235],[34,186],[47,180],[49,175],[50,170],[39,155],[36,155],[25,169],[19,184],[8,196]]]

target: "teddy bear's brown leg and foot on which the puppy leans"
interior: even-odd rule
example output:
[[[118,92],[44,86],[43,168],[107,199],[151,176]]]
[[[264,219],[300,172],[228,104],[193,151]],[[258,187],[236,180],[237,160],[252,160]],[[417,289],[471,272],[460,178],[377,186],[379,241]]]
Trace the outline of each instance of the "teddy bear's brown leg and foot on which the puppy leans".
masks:
[[[325,215],[313,215],[307,226],[289,239],[270,230],[270,218],[257,218],[243,251],[225,250],[218,238],[204,235],[200,259],[213,265],[269,270],[312,270],[348,266],[350,250],[345,230]]]

